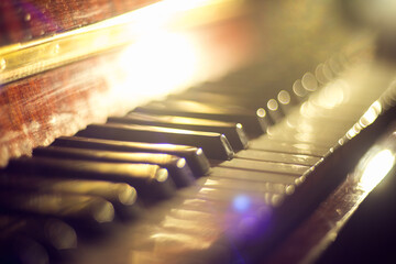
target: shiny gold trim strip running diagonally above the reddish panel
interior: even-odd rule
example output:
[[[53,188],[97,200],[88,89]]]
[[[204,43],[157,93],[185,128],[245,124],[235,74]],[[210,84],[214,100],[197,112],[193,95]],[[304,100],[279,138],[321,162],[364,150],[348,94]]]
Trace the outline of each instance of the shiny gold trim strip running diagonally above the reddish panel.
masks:
[[[136,41],[147,31],[185,30],[243,13],[243,0],[163,0],[42,40],[0,47],[0,85]]]

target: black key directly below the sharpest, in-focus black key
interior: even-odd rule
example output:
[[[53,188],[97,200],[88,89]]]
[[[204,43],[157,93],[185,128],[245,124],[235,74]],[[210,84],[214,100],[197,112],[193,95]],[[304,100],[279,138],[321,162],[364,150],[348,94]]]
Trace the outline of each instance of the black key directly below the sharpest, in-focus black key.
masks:
[[[100,140],[80,136],[61,136],[56,139],[52,145],[129,153],[166,153],[186,158],[188,166],[196,177],[208,174],[210,169],[210,164],[205,153],[200,147],[196,146]]]

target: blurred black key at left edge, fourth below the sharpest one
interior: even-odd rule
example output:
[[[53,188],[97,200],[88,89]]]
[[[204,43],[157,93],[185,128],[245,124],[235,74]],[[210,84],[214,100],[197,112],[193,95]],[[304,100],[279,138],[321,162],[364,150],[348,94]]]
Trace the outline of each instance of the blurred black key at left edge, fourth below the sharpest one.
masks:
[[[140,213],[136,190],[122,183],[58,179],[36,175],[2,175],[0,189],[97,196],[110,201],[117,215],[122,218],[135,218]]]

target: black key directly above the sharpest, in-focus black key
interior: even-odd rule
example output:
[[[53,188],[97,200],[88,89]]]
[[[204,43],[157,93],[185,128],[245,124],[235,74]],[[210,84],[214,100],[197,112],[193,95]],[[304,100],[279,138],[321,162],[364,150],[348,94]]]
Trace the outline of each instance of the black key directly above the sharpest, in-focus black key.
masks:
[[[146,124],[183,130],[217,132],[226,135],[233,150],[240,151],[248,147],[248,138],[241,123],[139,112],[131,112],[123,118],[109,118],[108,122]]]

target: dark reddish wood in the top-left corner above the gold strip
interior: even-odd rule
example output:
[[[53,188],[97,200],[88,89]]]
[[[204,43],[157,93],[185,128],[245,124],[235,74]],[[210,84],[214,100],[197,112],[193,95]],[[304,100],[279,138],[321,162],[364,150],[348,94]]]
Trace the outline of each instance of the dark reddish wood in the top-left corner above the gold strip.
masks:
[[[158,0],[2,0],[0,45],[92,24]]]

